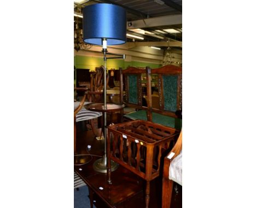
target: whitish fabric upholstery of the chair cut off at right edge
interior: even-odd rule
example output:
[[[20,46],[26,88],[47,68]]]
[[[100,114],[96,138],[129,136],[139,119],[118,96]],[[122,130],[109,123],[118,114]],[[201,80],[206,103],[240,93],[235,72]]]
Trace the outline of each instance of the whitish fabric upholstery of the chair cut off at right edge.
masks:
[[[170,164],[169,179],[182,185],[182,151]]]

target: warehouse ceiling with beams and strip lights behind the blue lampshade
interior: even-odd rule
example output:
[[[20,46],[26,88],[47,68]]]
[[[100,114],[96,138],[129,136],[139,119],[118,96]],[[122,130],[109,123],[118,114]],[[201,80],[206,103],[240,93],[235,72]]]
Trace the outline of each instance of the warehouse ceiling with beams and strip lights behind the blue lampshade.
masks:
[[[127,42],[141,46],[168,46],[182,48],[182,0],[80,0],[74,1],[74,13],[82,14],[83,8],[95,3],[111,3],[126,9]],[[81,2],[82,1],[82,2]],[[74,16],[74,29],[82,29],[82,18]],[[165,30],[171,29],[171,30]]]

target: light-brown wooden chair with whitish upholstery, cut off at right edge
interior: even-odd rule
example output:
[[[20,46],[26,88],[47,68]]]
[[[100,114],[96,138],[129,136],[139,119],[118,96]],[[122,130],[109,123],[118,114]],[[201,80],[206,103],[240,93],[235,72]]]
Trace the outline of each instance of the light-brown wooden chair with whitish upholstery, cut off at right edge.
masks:
[[[179,171],[178,171],[179,170]],[[176,174],[175,174],[176,173]],[[182,185],[182,131],[171,152],[164,159],[162,208],[170,208],[173,181]]]

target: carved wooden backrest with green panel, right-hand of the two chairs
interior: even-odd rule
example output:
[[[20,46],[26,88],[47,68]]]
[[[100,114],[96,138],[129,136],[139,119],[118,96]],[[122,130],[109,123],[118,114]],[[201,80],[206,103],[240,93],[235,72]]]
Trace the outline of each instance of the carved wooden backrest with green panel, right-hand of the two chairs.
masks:
[[[149,73],[158,76],[155,87],[158,88],[160,106],[159,109],[153,107],[152,111],[177,118],[175,112],[182,110],[182,68],[174,65],[147,68]],[[149,99],[152,100],[152,96]]]

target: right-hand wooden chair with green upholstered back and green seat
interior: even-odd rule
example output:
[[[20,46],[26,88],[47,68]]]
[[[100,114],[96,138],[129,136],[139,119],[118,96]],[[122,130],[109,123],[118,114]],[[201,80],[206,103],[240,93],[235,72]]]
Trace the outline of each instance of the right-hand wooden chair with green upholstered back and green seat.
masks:
[[[159,106],[154,108],[152,106],[154,97],[151,92],[148,93],[147,97],[150,105],[148,120],[181,130],[182,120],[177,117],[176,112],[182,110],[182,68],[166,65],[157,69],[147,67],[147,71],[150,80],[152,74],[158,76],[158,83],[155,87],[158,88],[159,98]],[[151,86],[150,80],[148,86]]]

